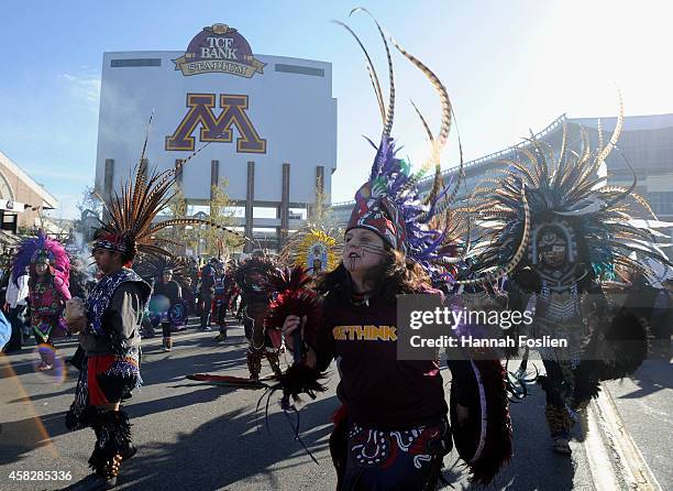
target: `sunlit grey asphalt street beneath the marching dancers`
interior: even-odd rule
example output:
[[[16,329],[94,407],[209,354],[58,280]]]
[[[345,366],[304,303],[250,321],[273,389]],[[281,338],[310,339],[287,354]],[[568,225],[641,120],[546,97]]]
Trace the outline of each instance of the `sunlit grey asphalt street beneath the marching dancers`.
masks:
[[[161,337],[143,341],[145,386],[126,405],[140,451],[124,463],[120,489],[332,490],[335,476],[327,445],[329,417],[338,407],[334,374],[330,391],[300,412],[301,438],[318,459],[316,465],[294,440],[278,408],[278,394],[271,397],[265,422],[264,404],[255,410],[263,391],[185,379],[196,372],[246,377],[242,329],[231,329],[230,341],[223,345],[214,341],[216,335],[194,329],[180,332],[170,353],[162,352]],[[58,346],[58,353],[69,357],[75,348],[76,341],[66,341]],[[89,472],[86,461],[93,433],[70,433],[64,425],[77,371],[36,373],[36,357],[32,349],[0,357],[0,490],[62,489]],[[668,438],[662,438],[673,434],[671,367],[647,362],[632,380],[608,384],[627,429],[662,489],[673,487]],[[263,372],[267,370],[265,365]],[[448,371],[444,374],[446,380]],[[589,460],[596,459],[587,451],[599,449],[605,458],[613,452],[607,451],[599,432],[586,441],[575,432],[572,460],[554,455],[549,448],[543,406],[538,388],[523,404],[512,404],[516,455],[495,489],[600,489],[597,470],[589,466]],[[291,417],[294,422],[296,416]],[[459,479],[455,488],[470,489],[455,452],[446,457],[445,465],[449,480]],[[20,470],[69,471],[71,480],[10,480],[10,472]]]

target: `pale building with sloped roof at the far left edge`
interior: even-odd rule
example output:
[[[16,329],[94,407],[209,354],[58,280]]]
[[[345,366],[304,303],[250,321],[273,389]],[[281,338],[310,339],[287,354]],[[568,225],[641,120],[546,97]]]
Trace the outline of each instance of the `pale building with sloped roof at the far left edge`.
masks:
[[[0,229],[43,227],[43,212],[58,208],[58,199],[0,152]],[[4,242],[4,241],[3,241]]]

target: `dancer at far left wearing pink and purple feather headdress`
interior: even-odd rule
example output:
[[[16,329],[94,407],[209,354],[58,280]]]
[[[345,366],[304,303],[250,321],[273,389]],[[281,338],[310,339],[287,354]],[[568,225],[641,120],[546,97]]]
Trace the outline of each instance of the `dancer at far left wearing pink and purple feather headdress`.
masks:
[[[37,370],[54,367],[54,339],[64,337],[65,303],[70,298],[68,279],[70,260],[64,247],[40,231],[37,238],[24,240],[12,264],[12,280],[30,265],[29,301],[31,327],[35,332],[42,359]]]

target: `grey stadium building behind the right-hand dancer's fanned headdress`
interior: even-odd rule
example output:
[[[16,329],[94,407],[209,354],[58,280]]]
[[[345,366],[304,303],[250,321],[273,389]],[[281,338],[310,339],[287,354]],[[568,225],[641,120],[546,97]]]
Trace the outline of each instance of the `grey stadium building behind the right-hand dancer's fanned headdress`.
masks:
[[[558,157],[563,135],[563,124],[566,124],[567,145],[577,148],[581,142],[581,128],[587,131],[591,146],[598,144],[599,118],[567,118],[565,114],[558,118],[536,138],[551,144],[554,156]],[[600,118],[603,140],[607,142],[615,130],[616,117]],[[465,184],[461,185],[459,197],[466,196],[477,184],[488,185],[484,182],[487,174],[497,170],[501,164],[498,161],[515,159],[517,150],[527,146],[527,142],[507,148],[496,153],[485,155],[466,162]],[[624,128],[617,148],[606,159],[608,170],[608,185],[630,186],[633,174],[638,179],[636,193],[644,196],[660,220],[673,221],[673,114],[632,116],[625,118]],[[632,167],[632,171],[631,168]],[[444,182],[455,179],[457,166],[444,171]],[[432,185],[429,176],[420,183],[421,194],[428,193]],[[334,216],[341,225],[349,220],[353,201],[339,203],[332,206]],[[662,230],[663,231],[663,230]],[[668,230],[673,238],[673,229]],[[672,239],[673,242],[673,239]],[[664,249],[670,257],[673,248]]]

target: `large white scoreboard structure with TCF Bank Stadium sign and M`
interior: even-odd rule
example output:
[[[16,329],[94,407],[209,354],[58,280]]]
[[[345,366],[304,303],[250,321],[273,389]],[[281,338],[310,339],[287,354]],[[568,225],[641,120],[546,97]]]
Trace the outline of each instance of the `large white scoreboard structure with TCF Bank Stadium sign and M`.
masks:
[[[152,113],[150,168],[173,168],[201,149],[179,173],[187,203],[207,206],[212,186],[227,179],[241,229],[262,247],[278,249],[301,227],[297,212],[315,203],[317,183],[329,194],[336,168],[330,63],[253,54],[238,30],[213,24],[184,52],[104,53],[100,96],[96,190],[103,197],[139,163]]]

